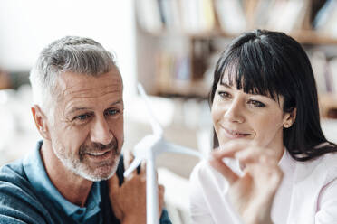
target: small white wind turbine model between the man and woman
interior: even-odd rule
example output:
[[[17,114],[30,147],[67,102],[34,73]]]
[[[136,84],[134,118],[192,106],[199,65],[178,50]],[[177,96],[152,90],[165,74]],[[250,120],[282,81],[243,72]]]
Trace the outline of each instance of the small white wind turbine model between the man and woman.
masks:
[[[171,152],[178,154],[190,154],[201,158],[201,154],[188,147],[168,143],[164,139],[163,129],[152,113],[151,107],[149,105],[149,98],[147,97],[141,84],[138,85],[138,89],[140,91],[140,96],[144,100],[144,103],[148,109],[149,121],[152,126],[153,134],[146,135],[137,145],[135,145],[133,150],[135,158],[130,164],[129,169],[124,172],[124,176],[127,177],[130,173],[132,173],[132,171],[134,171],[143,160],[146,161],[147,224],[158,224],[159,198],[155,163],[156,156],[164,152]]]

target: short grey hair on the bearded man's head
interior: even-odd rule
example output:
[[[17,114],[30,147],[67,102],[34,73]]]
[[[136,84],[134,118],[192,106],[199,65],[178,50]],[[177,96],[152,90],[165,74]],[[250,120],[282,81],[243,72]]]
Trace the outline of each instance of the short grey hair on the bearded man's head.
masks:
[[[34,104],[48,110],[63,72],[99,76],[114,67],[118,69],[114,57],[99,42],[78,36],[56,40],[43,49],[30,72]]]

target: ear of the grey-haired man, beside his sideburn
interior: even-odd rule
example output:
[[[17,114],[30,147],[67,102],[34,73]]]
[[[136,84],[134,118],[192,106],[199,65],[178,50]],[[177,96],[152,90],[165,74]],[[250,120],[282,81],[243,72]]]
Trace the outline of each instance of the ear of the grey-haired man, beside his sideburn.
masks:
[[[47,117],[45,117],[43,110],[38,105],[31,107],[31,110],[38,132],[43,137],[43,139],[50,140]]]

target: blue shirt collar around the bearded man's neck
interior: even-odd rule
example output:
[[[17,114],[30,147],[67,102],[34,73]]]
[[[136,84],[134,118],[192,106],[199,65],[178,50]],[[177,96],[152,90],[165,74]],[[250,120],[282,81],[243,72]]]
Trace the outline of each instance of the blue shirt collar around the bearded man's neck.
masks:
[[[53,183],[50,181],[47,173],[45,172],[43,160],[40,154],[42,145],[43,141],[39,141],[36,145],[35,150],[24,158],[23,161],[24,171],[27,175],[29,182],[31,182],[36,191],[46,196],[50,201],[55,202],[56,206],[60,210],[63,210],[68,216],[86,212],[86,208],[81,208],[80,206],[75,205],[70,201],[67,201],[63,197],[63,195],[59,191],[57,191]],[[100,183],[93,182],[90,195],[85,205],[90,210],[88,211],[87,215],[89,215],[89,213],[91,215],[94,215],[97,212],[99,212],[100,203],[101,203]]]

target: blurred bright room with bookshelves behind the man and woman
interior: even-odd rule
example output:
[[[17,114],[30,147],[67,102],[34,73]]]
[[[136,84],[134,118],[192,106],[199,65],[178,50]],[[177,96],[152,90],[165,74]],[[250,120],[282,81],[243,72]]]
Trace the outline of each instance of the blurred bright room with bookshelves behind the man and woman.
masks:
[[[337,0],[1,0],[0,165],[40,139],[28,75],[39,52],[64,35],[91,37],[117,57],[124,80],[125,145],[151,133],[137,82],[174,143],[207,154],[207,103],[215,63],[237,34],[283,31],[303,44],[319,90],[323,132],[337,142]],[[197,159],[162,154],[159,182],[173,223],[187,224],[188,177]]]

